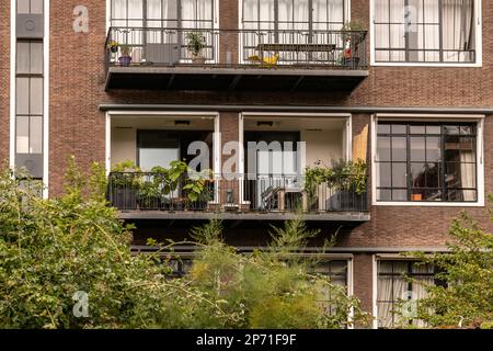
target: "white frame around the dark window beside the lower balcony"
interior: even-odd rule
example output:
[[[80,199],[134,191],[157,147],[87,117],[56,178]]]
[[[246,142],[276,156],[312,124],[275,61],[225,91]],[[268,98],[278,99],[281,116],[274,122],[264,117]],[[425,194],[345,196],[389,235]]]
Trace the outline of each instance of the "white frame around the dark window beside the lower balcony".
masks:
[[[485,115],[458,114],[392,114],[382,113],[371,116],[371,205],[374,206],[415,206],[415,207],[484,207],[484,118]],[[377,123],[378,121],[402,122],[473,122],[478,123],[477,132],[477,202],[422,202],[422,201],[377,201]]]

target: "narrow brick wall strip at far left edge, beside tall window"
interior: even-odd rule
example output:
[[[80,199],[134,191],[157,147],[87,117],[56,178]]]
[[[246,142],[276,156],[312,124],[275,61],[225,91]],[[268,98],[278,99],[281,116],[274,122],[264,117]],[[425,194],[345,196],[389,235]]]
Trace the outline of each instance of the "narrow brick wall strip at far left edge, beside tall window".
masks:
[[[0,162],[9,159],[10,1],[0,2]]]

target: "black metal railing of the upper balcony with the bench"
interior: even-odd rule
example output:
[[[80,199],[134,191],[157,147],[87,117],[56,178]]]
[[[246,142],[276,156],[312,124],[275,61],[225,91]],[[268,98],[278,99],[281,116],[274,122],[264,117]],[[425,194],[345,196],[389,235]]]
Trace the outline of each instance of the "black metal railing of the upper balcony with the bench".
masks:
[[[106,68],[367,69],[366,31],[111,27]],[[191,39],[195,38],[195,50]]]

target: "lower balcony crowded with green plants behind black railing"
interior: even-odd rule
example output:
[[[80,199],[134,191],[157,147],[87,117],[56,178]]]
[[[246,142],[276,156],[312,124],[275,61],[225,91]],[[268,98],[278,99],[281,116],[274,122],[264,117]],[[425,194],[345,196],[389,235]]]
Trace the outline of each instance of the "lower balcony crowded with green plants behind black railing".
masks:
[[[369,220],[367,191],[356,189],[351,178],[308,185],[301,176],[170,180],[156,172],[112,172],[107,200],[124,219],[285,220],[302,213],[306,220]]]

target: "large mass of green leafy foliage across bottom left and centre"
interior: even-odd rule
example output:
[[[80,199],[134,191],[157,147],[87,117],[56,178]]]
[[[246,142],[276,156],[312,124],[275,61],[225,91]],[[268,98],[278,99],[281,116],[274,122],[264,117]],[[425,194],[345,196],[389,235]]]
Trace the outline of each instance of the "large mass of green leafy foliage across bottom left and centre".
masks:
[[[342,328],[349,310],[364,317],[343,288],[278,254],[312,235],[302,222],[273,234],[276,249],[245,256],[213,220],[193,231],[202,249],[190,274],[171,279],[158,253],[131,254],[133,228],[107,206],[100,165],[85,174],[71,159],[59,199],[24,183],[0,176],[0,328]],[[73,314],[77,292],[89,294],[88,317]]]

